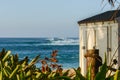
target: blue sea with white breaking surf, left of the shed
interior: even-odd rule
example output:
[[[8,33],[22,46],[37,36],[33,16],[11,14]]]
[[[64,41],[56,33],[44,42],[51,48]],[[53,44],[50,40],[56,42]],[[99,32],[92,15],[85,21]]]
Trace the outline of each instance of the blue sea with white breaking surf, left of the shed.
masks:
[[[53,50],[58,50],[58,64],[63,68],[78,67],[78,38],[0,38],[0,50],[2,48],[17,53],[20,59],[28,56],[30,60],[37,55],[41,59],[49,57]]]

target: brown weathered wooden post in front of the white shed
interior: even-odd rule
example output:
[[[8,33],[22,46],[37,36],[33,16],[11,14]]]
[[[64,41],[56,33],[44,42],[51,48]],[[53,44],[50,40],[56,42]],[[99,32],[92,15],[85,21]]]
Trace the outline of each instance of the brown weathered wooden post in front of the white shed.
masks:
[[[88,70],[88,67],[91,65],[91,80],[94,80],[95,75],[98,72],[99,66],[102,65],[102,59],[99,56],[99,50],[98,49],[87,50],[85,57],[87,62],[86,70]]]

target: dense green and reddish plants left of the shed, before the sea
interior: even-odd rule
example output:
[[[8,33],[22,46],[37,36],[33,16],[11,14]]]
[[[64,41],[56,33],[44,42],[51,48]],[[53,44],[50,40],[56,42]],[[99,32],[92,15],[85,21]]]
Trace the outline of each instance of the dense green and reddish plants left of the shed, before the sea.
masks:
[[[40,61],[39,55],[29,62],[28,57],[19,60],[17,54],[13,55],[11,51],[3,49],[0,52],[0,80],[70,80],[66,76],[67,72],[62,73],[62,68],[53,64],[57,62],[56,55],[57,52],[53,51],[52,58],[49,59],[52,66],[57,67],[53,72],[46,62],[47,58],[41,60],[42,69],[40,69],[35,66],[36,62]]]

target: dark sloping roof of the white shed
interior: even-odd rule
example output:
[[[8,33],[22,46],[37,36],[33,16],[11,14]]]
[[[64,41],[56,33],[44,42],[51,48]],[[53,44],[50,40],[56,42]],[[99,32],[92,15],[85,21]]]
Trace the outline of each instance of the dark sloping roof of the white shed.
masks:
[[[107,11],[107,12],[80,20],[78,21],[78,24],[111,21],[111,20],[115,20],[115,18],[117,17],[120,17],[120,10],[112,10],[112,11]]]

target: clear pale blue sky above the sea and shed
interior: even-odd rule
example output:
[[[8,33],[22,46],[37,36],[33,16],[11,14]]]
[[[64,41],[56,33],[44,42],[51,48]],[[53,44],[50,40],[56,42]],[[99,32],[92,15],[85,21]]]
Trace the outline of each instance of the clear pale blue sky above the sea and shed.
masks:
[[[78,37],[79,20],[114,9],[105,1],[0,0],[0,37]]]

